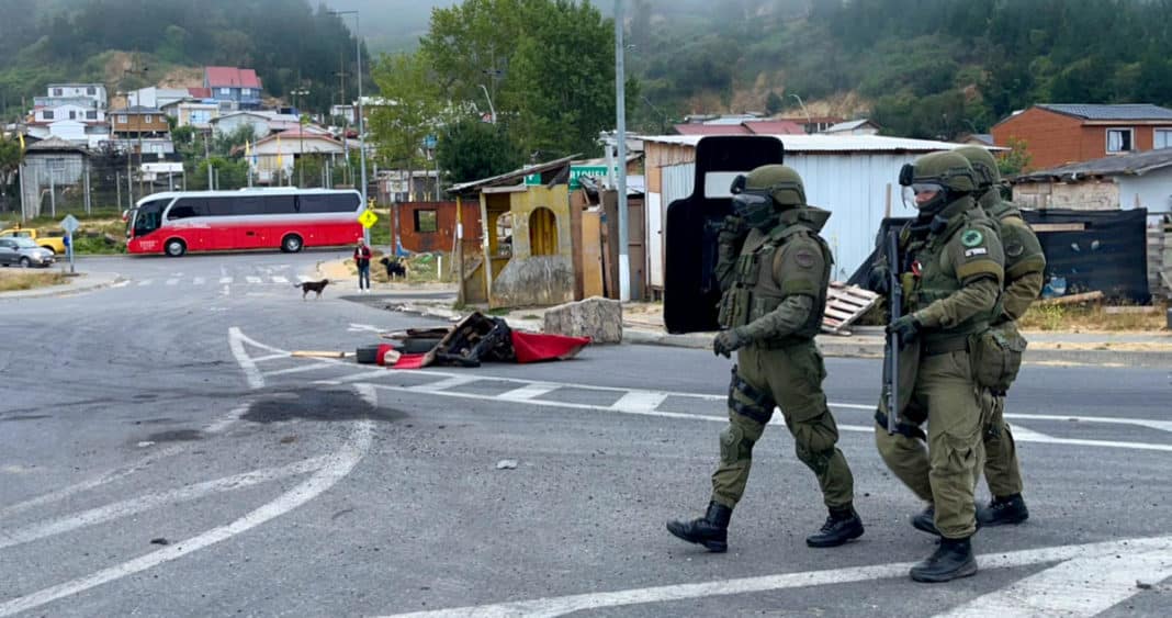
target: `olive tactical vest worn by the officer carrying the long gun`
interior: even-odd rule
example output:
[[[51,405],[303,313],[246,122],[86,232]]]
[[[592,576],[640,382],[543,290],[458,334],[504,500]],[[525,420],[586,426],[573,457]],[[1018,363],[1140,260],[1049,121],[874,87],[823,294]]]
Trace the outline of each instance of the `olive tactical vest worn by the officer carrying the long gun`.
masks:
[[[946,211],[947,210],[950,209],[946,209]],[[905,291],[905,314],[927,307],[936,300],[948,298],[963,287],[955,273],[947,272],[943,269],[943,254],[948,247],[948,240],[966,225],[982,219],[983,223],[989,223],[992,225],[993,222],[987,217],[974,213],[980,213],[980,210],[974,211],[972,209],[965,209],[963,211],[949,217],[948,223],[942,231],[931,232],[926,238],[908,240],[905,256],[907,256],[909,262],[919,263],[920,276],[915,277],[913,273],[906,272],[906,270],[902,271],[905,272],[901,278]],[[994,230],[994,232],[996,230]],[[993,311],[988,313],[973,315],[947,331],[925,333],[925,342],[931,345],[933,341],[952,339],[959,340],[962,337],[986,331],[988,330],[993,317],[1000,312],[1001,303],[999,301]]]

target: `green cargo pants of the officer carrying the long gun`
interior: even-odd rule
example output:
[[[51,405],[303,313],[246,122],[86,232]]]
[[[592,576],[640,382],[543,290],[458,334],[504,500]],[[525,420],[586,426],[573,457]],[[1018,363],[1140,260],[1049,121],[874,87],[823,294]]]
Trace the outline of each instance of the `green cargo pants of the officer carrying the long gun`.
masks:
[[[965,351],[921,356],[912,388],[908,407],[927,412],[927,450],[921,440],[888,435],[886,427],[877,425],[879,455],[917,496],[935,504],[935,524],[942,536],[972,536],[976,531],[973,488],[984,459],[982,419],[990,408],[982,401],[989,395],[973,381]]]

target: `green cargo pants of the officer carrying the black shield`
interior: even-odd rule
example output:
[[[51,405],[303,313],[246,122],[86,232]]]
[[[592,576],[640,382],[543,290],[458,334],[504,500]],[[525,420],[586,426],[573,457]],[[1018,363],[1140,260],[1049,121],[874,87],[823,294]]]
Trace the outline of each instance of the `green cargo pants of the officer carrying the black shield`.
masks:
[[[752,467],[752,447],[761,440],[776,402],[793,436],[798,459],[818,477],[826,507],[837,509],[850,504],[854,478],[843,453],[834,446],[838,426],[822,392],[826,367],[813,341],[776,349],[744,347],[737,352],[737,376],[748,388],[732,388],[729,394],[740,402],[742,412],[729,406],[729,425],[721,432],[721,462],[713,473],[713,502],[731,509],[744,495]],[[770,401],[757,406],[745,391]]]

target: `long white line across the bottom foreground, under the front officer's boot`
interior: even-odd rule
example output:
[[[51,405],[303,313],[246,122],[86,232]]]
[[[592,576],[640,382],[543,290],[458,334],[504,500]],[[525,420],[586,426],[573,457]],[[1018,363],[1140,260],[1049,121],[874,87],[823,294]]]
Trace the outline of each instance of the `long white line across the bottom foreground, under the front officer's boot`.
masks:
[[[1136,552],[1137,549],[1149,549],[1152,552],[1160,552],[1165,556],[1165,559],[1167,559],[1170,556],[1168,552],[1172,551],[1172,537],[1137,538],[1130,541],[1092,543],[1088,545],[1062,545],[1056,548],[1029,549],[1007,554],[979,556],[976,562],[981,569],[986,570],[1007,569],[1014,566],[1044,564],[1048,562],[1069,561],[1071,558],[1079,558],[1084,556],[1113,557],[1116,554],[1127,554],[1130,558],[1130,555]],[[676,584],[620,590],[615,592],[588,592],[585,595],[546,597],[513,603],[396,613],[393,616],[394,618],[496,618],[506,616],[552,618],[573,612],[585,612],[607,607],[624,607],[628,605],[645,605],[650,603],[670,603],[706,597],[749,595],[754,592],[772,592],[796,588],[851,584],[897,577],[904,578],[907,577],[907,571],[912,568],[912,564],[913,563],[877,564],[871,566],[851,566],[846,569],[832,569],[825,571],[768,575],[762,577],[723,579],[696,584]],[[1095,575],[1096,573],[1084,572],[1084,578],[1090,578]],[[1134,588],[1134,580],[1131,582],[1131,586]],[[1021,611],[1022,610],[1017,610],[1018,613],[1016,614],[1020,616]],[[981,616],[1001,614],[986,611],[982,612]]]

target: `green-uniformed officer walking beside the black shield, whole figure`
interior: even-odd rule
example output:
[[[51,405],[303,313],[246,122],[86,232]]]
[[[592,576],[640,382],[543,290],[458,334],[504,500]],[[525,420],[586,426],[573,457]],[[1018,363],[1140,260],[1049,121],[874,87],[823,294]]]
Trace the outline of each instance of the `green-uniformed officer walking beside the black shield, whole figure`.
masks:
[[[816,548],[841,545],[863,535],[854,511],[853,477],[836,447],[838,427],[826,407],[825,365],[813,337],[826,306],[832,258],[818,231],[830,212],[805,203],[796,171],[764,165],[734,183],[734,210],[720,235],[717,277],[722,331],[717,354],[737,352],[729,387],[729,423],[713,474],[711,502],[702,518],[668,522],[673,535],[708,548],[728,549],[728,524],[744,494],[752,448],[775,406],[793,435],[798,459],[813,470],[830,510],[806,538]]]

